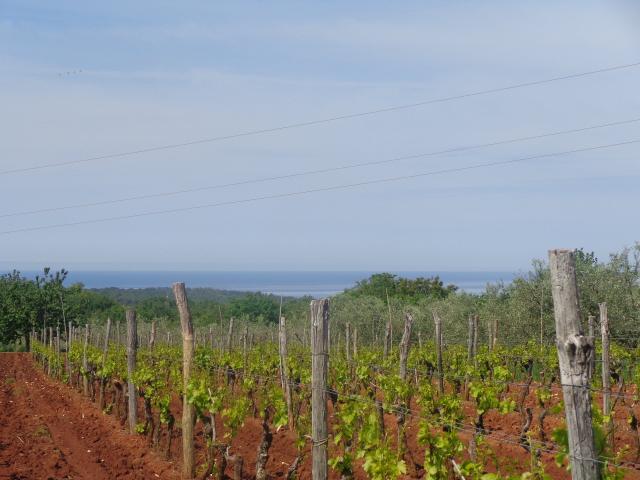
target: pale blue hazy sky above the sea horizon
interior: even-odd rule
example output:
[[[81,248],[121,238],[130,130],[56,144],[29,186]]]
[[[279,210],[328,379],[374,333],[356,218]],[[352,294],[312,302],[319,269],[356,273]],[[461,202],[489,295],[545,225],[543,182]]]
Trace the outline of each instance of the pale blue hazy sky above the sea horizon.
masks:
[[[246,200],[640,140],[640,122],[204,187],[640,118],[640,67],[8,171],[636,63],[638,24],[640,4],[621,0],[2,0],[0,268],[519,271],[561,247],[606,258],[640,240],[640,144]],[[122,216],[135,217],[101,221]]]

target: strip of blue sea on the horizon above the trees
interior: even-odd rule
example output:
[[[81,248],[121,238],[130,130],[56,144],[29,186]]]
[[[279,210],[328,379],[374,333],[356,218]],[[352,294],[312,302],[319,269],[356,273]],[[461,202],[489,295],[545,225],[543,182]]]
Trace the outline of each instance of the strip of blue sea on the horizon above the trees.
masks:
[[[33,277],[38,272],[23,272]],[[315,298],[335,295],[355,286],[376,272],[368,271],[82,271],[72,270],[66,284],[82,283],[87,288],[169,287],[184,282],[187,287],[262,292],[274,295]],[[469,293],[484,291],[488,283],[510,283],[513,272],[391,272],[404,278],[439,276],[447,284]]]

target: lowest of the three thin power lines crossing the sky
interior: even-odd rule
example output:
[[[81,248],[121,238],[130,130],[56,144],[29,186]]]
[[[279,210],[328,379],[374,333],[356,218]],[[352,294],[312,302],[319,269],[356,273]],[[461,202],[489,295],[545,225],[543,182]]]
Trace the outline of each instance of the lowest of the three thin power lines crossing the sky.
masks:
[[[401,175],[401,176],[397,176],[397,177],[386,177],[386,178],[380,178],[380,179],[376,179],[376,180],[366,180],[366,181],[362,181],[362,182],[347,183],[347,184],[343,184],[343,185],[332,185],[332,186],[328,186],[328,187],[313,188],[313,189],[309,189],[309,190],[300,190],[300,191],[296,191],[296,192],[276,193],[276,194],[271,194],[271,195],[263,195],[263,196],[258,196],[258,197],[244,198],[244,199],[239,199],[239,200],[228,200],[228,201],[218,202],[218,203],[205,203],[205,204],[201,204],[201,205],[193,205],[193,206],[190,206],[190,207],[179,207],[179,208],[171,208],[171,209],[166,209],[166,210],[154,210],[154,211],[149,211],[149,212],[134,213],[134,214],[129,214],[129,215],[118,215],[118,216],[114,216],[114,217],[104,217],[104,218],[96,218],[96,219],[89,219],[89,220],[79,220],[79,221],[76,221],[76,222],[57,223],[57,224],[51,224],[51,225],[40,225],[40,226],[35,226],[35,227],[17,228],[17,229],[13,229],[13,230],[0,231],[0,235],[9,235],[9,234],[13,234],[13,233],[31,232],[31,231],[37,231],[37,230],[48,230],[48,229],[52,229],[52,228],[87,225],[87,224],[93,224],[93,223],[111,222],[111,221],[116,221],[116,220],[125,220],[125,219],[146,217],[146,216],[152,216],[152,215],[163,215],[163,214],[167,214],[167,213],[186,212],[186,211],[190,211],[190,210],[199,210],[199,209],[203,209],[203,208],[213,208],[213,207],[222,207],[222,206],[228,206],[228,205],[239,205],[239,204],[244,204],[244,203],[253,203],[253,202],[258,202],[258,201],[262,201],[262,200],[270,200],[270,199],[276,199],[276,198],[295,197],[295,196],[306,195],[306,194],[310,194],[310,193],[328,192],[328,191],[333,191],[333,190],[344,190],[344,189],[348,189],[348,188],[361,187],[361,186],[365,186],[365,185],[391,183],[391,182],[397,182],[397,181],[401,181],[401,180],[410,180],[410,179],[414,179],[414,178],[421,178],[421,177],[427,177],[427,176],[433,176],[433,175],[442,175],[442,174],[446,174],[446,173],[463,172],[463,171],[467,171],[467,170],[477,170],[477,169],[481,169],[481,168],[495,167],[495,166],[500,166],[500,165],[510,165],[510,164],[526,162],[526,161],[542,159],[542,158],[559,157],[559,156],[570,155],[570,154],[574,154],[574,153],[590,152],[590,151],[594,151],[594,150],[602,150],[602,149],[605,149],[605,148],[613,148],[613,147],[619,147],[619,146],[623,146],[623,145],[632,145],[632,144],[636,144],[636,143],[639,143],[639,142],[640,142],[640,139],[628,140],[628,141],[625,141],[625,142],[611,143],[611,144],[607,144],[607,145],[597,145],[597,146],[594,146],[594,147],[578,148],[578,149],[574,149],[574,150],[565,150],[565,151],[562,151],[562,152],[545,153],[545,154],[541,154],[541,155],[533,155],[533,156],[529,156],[529,157],[516,158],[516,159],[512,159],[512,160],[499,160],[499,161],[494,161],[494,162],[477,163],[477,164],[474,164],[474,165],[467,165],[467,166],[464,166],[464,167],[445,168],[445,169],[441,169],[441,170],[432,170],[432,171],[429,171],[429,172],[416,173],[416,174],[412,174],[412,175]]]

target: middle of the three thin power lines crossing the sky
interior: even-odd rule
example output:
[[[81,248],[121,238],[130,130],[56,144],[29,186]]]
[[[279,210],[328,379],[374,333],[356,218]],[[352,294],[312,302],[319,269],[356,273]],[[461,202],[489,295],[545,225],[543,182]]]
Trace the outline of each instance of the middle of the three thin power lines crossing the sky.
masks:
[[[58,212],[58,211],[62,211],[62,210],[71,210],[71,209],[74,209],[74,208],[98,207],[98,206],[103,206],[103,205],[112,205],[112,204],[116,204],[116,203],[124,203],[124,202],[130,202],[130,201],[135,201],[135,200],[145,200],[145,199],[149,199],[149,198],[168,197],[168,196],[174,196],[174,195],[183,195],[183,194],[186,194],[186,193],[195,193],[195,192],[202,192],[202,191],[207,191],[207,190],[216,190],[216,189],[221,189],[221,188],[237,187],[237,186],[241,186],[241,185],[272,182],[272,181],[275,181],[275,180],[284,180],[284,179],[288,179],[288,178],[303,177],[303,176],[307,176],[307,175],[318,175],[318,174],[321,174],[321,173],[337,172],[337,171],[341,171],[341,170],[348,170],[348,169],[352,169],[352,168],[361,168],[361,167],[373,166],[373,165],[383,165],[383,164],[387,164],[387,163],[399,162],[399,161],[402,161],[402,160],[412,160],[412,159],[425,158],[425,157],[435,157],[435,156],[444,155],[444,154],[447,154],[447,153],[465,152],[465,151],[469,151],[469,150],[477,150],[477,149],[481,149],[481,148],[495,147],[495,146],[499,146],[499,145],[507,145],[507,144],[523,142],[523,141],[527,141],[527,140],[537,140],[537,139],[541,139],[541,138],[548,138],[548,137],[554,137],[554,136],[559,136],[559,135],[567,135],[567,134],[571,134],[571,133],[580,133],[580,132],[586,132],[586,131],[590,131],[590,130],[596,130],[596,129],[599,129],[599,128],[616,127],[616,126],[620,126],[620,125],[628,125],[628,124],[631,124],[631,123],[637,123],[639,121],[640,121],[640,117],[632,118],[632,119],[629,119],[629,120],[620,120],[620,121],[616,121],[616,122],[601,123],[601,124],[598,124],[598,125],[590,125],[590,126],[587,126],[587,127],[574,128],[574,129],[570,129],[570,130],[560,130],[560,131],[554,131],[554,132],[547,132],[547,133],[542,133],[542,134],[537,134],[537,135],[529,135],[529,136],[526,136],[526,137],[512,138],[512,139],[508,139],[508,140],[496,140],[496,141],[489,142],[489,143],[482,143],[482,144],[461,146],[461,147],[453,147],[453,148],[448,148],[448,149],[444,149],[444,150],[436,150],[436,151],[432,151],[432,152],[418,153],[418,154],[414,154],[414,155],[405,155],[405,156],[394,157],[394,158],[385,159],[385,160],[375,160],[375,161],[371,161],[371,162],[352,163],[352,164],[341,165],[341,166],[337,166],[337,167],[328,167],[328,168],[321,168],[321,169],[316,169],[316,170],[307,170],[307,171],[304,171],[304,172],[296,172],[296,173],[290,173],[290,174],[285,174],[285,175],[264,177],[264,178],[258,178],[258,179],[253,179],[253,180],[241,180],[241,181],[231,182],[231,183],[222,183],[222,184],[217,184],[217,185],[207,185],[207,186],[202,186],[202,187],[186,188],[186,189],[173,190],[173,191],[168,191],[168,192],[156,192],[156,193],[149,193],[149,194],[145,194],[145,195],[134,195],[134,196],[130,196],[130,197],[116,198],[116,199],[112,199],[112,200],[102,200],[102,201],[97,201],[97,202],[76,203],[76,204],[73,204],[73,205],[63,205],[63,206],[60,206],[60,207],[48,207],[48,208],[40,208],[40,209],[35,209],[35,210],[25,210],[25,211],[22,211],[22,212],[4,213],[4,214],[0,214],[0,218],[20,217],[20,216],[25,216],[25,215],[35,215],[35,214],[38,214],[38,213]]]

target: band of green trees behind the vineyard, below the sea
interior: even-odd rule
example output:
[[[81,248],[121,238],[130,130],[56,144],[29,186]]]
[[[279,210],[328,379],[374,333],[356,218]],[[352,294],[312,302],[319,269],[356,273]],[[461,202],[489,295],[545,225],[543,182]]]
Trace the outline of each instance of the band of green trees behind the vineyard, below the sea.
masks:
[[[629,341],[640,339],[640,243],[600,261],[593,253],[576,253],[581,312],[597,315],[598,303],[607,302],[611,331]],[[0,277],[0,343],[18,339],[27,342],[32,329],[75,324],[101,324],[107,317],[123,319],[127,307],[135,307],[143,322],[157,320],[178,324],[173,294],[167,288],[86,289],[82,284],[65,285],[67,272],[45,269],[27,279],[14,271]],[[189,302],[196,326],[226,325],[231,317],[246,325],[275,324],[287,317],[290,328],[302,333],[308,327],[310,297],[282,299],[275,295],[189,288]],[[433,333],[433,312],[443,320],[445,341],[466,338],[467,318],[479,315],[480,335],[488,336],[488,325],[497,329],[498,341],[552,341],[553,303],[549,268],[534,260],[532,269],[509,285],[488,284],[481,294],[461,292],[444,285],[438,277],[406,279],[389,273],[372,275],[331,301],[332,336],[341,335],[346,322],[358,328],[359,340],[378,342],[389,319],[399,330],[403,312],[416,319],[416,332]]]

